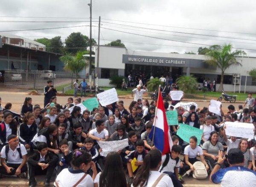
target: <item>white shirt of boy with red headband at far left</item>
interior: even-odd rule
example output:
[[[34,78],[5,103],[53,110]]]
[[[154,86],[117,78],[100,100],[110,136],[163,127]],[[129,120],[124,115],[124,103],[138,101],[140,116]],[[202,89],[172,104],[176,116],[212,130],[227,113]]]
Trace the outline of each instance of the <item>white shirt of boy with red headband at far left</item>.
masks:
[[[23,144],[20,144],[20,146],[18,145],[14,151],[11,148],[9,148],[8,159],[6,163],[20,164],[23,161],[23,158],[20,158],[20,154],[17,151],[18,147],[20,147],[20,152],[22,156],[27,154],[26,148]],[[6,158],[5,150],[6,150],[6,146],[4,146],[3,149],[1,150],[1,158]]]

